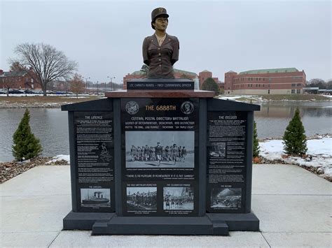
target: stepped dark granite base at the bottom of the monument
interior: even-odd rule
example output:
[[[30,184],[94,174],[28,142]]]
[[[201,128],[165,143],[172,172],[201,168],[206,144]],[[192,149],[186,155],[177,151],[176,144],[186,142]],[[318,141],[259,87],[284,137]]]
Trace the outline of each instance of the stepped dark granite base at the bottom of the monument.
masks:
[[[259,231],[249,214],[205,214],[203,217],[121,217],[115,213],[69,212],[64,230],[92,230],[92,235],[228,235],[229,231]]]

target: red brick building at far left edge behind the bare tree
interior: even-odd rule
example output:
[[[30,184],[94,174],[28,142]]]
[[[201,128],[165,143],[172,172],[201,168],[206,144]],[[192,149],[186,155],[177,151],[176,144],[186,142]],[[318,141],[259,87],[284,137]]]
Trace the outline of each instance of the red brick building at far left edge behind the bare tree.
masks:
[[[3,71],[0,70],[0,89],[36,89],[36,75],[33,71]]]

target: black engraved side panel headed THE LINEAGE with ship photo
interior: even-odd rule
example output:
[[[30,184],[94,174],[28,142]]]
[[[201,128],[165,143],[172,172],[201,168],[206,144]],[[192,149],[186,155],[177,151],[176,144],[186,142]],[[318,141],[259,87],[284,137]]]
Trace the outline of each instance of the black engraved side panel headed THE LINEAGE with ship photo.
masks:
[[[76,209],[114,212],[113,112],[74,112]]]

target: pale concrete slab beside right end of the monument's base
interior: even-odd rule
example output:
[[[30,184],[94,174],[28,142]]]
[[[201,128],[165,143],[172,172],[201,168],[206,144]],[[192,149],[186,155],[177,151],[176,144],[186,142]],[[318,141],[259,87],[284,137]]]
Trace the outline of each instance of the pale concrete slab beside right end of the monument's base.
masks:
[[[252,197],[263,232],[331,232],[331,196]]]

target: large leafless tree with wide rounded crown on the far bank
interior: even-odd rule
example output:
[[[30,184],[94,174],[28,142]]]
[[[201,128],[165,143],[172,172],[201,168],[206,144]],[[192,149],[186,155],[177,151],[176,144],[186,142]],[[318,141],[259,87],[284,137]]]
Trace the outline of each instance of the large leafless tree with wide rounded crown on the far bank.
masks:
[[[76,61],[67,59],[63,52],[43,43],[22,43],[14,49],[18,54],[17,62],[21,68],[32,68],[37,75],[37,82],[46,96],[46,86],[53,80],[66,80],[77,69]],[[11,64],[16,60],[11,60]]]

